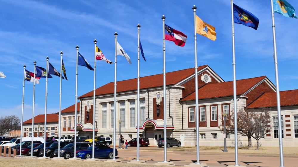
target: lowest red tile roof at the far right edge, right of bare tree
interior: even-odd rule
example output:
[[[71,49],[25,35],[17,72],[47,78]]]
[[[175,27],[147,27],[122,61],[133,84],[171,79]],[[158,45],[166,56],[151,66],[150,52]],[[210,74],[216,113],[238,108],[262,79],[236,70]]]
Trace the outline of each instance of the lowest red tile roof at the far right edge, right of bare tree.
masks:
[[[298,90],[280,91],[280,106],[294,106],[298,105]],[[276,107],[277,99],[276,92],[264,93],[257,100],[252,102],[247,109],[263,108],[263,107]]]

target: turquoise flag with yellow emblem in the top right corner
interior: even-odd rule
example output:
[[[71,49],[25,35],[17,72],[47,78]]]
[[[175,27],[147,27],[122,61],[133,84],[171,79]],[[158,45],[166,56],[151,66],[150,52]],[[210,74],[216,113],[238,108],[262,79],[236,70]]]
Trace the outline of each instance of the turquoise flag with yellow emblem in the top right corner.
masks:
[[[294,7],[285,0],[274,0],[273,11],[288,18],[297,18]]]

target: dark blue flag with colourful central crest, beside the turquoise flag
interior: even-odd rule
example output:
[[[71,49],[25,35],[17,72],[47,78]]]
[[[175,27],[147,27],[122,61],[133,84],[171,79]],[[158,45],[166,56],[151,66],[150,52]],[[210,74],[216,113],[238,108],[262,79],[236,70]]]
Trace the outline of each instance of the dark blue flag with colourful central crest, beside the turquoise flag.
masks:
[[[234,23],[243,24],[244,26],[257,29],[259,26],[259,19],[255,17],[251,12],[238,7],[233,4],[234,11]]]

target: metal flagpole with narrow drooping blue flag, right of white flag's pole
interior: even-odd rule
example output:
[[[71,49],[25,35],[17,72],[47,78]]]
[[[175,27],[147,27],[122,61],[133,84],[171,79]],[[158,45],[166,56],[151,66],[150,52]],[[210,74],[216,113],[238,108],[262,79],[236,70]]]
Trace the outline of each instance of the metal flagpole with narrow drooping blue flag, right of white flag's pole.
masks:
[[[140,160],[140,24],[138,24],[138,100],[137,100],[137,151],[136,160]]]

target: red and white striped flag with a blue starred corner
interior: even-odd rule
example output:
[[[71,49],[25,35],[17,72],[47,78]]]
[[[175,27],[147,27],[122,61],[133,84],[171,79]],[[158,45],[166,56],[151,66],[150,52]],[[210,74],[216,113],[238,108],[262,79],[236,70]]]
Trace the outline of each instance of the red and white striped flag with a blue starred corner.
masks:
[[[164,24],[164,39],[175,42],[176,45],[183,47],[187,36],[180,31]]]

